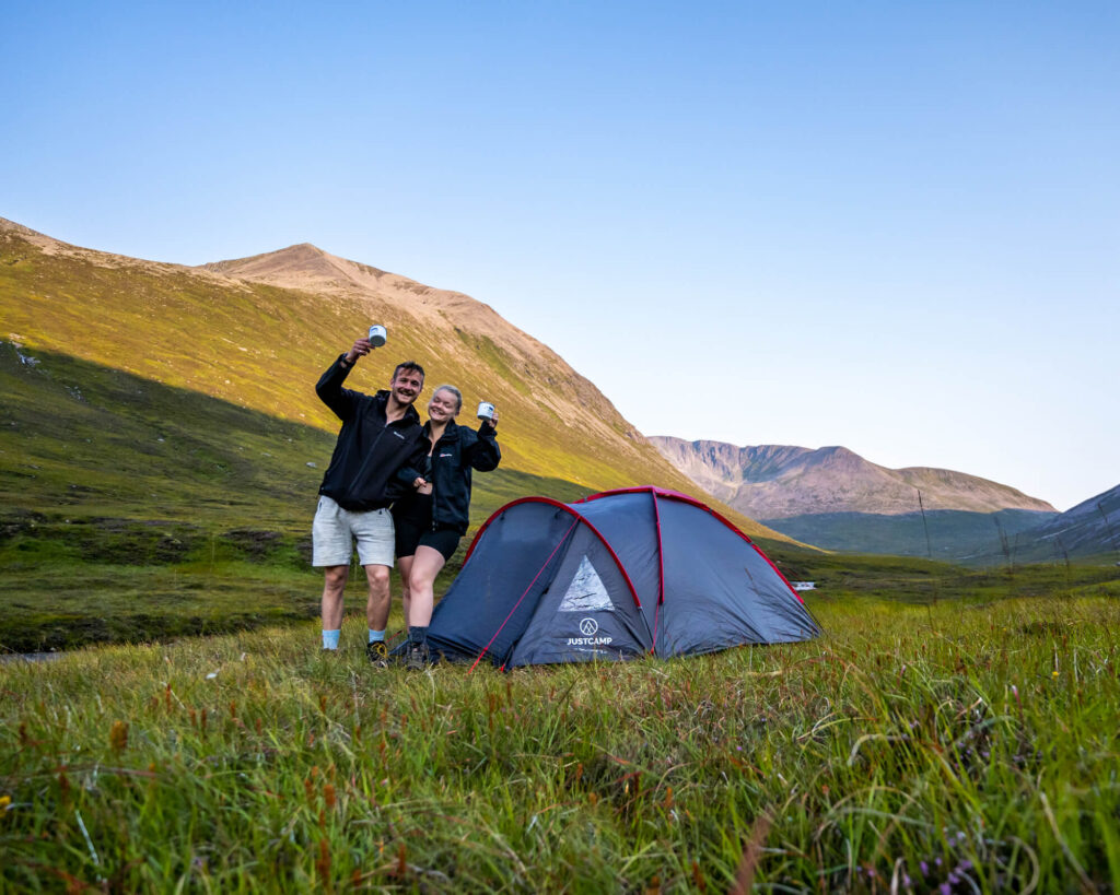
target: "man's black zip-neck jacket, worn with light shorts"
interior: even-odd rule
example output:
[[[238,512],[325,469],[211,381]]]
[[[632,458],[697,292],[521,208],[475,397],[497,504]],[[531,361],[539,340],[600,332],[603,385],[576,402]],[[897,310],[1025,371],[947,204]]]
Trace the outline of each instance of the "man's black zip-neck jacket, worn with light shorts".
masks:
[[[364,395],[343,388],[353,368],[343,366],[344,357],[339,355],[315,386],[323,403],[343,421],[319,493],[343,509],[379,510],[405,492],[409,483],[398,473],[422,463],[429,442],[412,407],[400,420],[385,423],[389,392]]]

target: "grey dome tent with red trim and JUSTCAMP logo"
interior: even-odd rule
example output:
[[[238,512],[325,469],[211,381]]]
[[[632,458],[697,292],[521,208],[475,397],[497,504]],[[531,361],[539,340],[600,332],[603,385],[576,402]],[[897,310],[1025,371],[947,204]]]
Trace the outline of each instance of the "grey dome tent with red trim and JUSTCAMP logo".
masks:
[[[513,668],[819,633],[750,538],[688,494],[644,487],[502,507],[436,606],[428,643],[446,659]]]

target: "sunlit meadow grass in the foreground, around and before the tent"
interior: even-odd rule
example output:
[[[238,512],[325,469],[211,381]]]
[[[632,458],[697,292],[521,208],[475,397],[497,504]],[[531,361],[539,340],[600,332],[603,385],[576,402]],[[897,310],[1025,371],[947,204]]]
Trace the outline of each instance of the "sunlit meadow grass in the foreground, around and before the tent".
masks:
[[[673,661],[370,667],[347,622],[0,667],[12,891],[1066,892],[1120,878],[1120,603],[815,601]]]

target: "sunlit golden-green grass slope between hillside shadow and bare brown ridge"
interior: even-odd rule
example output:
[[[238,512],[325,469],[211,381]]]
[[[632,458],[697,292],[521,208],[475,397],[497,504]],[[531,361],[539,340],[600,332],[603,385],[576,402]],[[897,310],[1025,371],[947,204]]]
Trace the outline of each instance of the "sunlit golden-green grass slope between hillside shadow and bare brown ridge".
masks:
[[[468,401],[479,396],[479,379],[498,378],[482,375],[484,364],[478,371],[442,364],[439,347],[404,309],[371,309],[99,253],[44,254],[12,233],[0,232],[0,301],[13,338],[281,420],[337,431],[315,383],[374,317],[388,323],[392,341],[358,366],[352,387],[384,387],[395,362],[407,358],[420,360],[432,383],[461,383]],[[460,338],[473,341],[469,332]],[[591,486],[625,474],[609,458],[582,450],[577,432],[557,420],[542,425],[539,412],[525,412],[524,398],[493,385],[487,394],[505,411],[511,467]]]

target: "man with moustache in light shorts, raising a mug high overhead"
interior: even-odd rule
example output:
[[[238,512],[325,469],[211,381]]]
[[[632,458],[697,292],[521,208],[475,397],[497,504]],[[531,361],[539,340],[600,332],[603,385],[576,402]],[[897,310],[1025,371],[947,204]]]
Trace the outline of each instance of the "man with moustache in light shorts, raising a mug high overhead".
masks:
[[[389,506],[409,487],[398,473],[422,463],[429,445],[412,407],[423,389],[423,367],[416,361],[399,364],[389,389],[376,395],[343,388],[358,358],[372,350],[367,338],[357,339],[315,386],[343,426],[319,486],[319,506],[311,526],[311,564],[323,567],[325,575],[323,648],[337,650],[343,591],[349,576],[353,541],[357,541],[358,560],[370,585],[366,654],[371,662],[385,665],[389,569],[393,565],[393,517]]]

